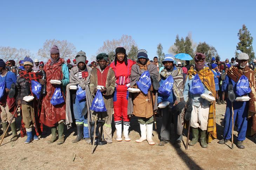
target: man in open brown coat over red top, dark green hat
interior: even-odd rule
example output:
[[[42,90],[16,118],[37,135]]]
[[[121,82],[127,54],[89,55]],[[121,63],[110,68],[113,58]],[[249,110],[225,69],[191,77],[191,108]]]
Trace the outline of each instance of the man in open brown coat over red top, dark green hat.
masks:
[[[115,73],[113,69],[107,66],[108,55],[100,53],[96,57],[99,66],[92,69],[90,75],[90,91],[95,97],[97,86],[101,86],[102,97],[107,111],[99,114],[99,118],[105,120],[103,125],[104,138],[108,143],[112,143],[112,111],[113,111],[113,93],[115,89]],[[93,113],[94,114],[94,113]]]

